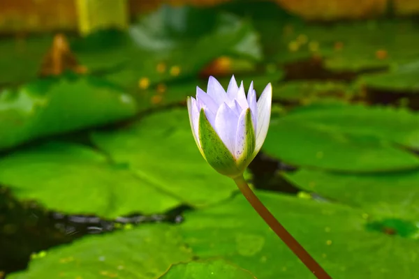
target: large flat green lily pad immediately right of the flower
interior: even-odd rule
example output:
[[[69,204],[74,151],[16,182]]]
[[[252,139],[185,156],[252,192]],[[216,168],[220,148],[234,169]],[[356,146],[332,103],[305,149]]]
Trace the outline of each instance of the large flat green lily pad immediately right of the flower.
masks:
[[[345,172],[419,167],[419,117],[404,110],[314,105],[272,116],[263,150],[286,163]]]

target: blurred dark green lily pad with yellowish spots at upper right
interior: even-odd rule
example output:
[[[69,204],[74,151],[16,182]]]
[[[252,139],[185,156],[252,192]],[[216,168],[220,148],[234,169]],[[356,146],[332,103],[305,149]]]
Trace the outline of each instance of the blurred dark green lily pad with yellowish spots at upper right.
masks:
[[[332,71],[385,68],[394,63],[407,63],[419,55],[413,43],[418,40],[417,26],[409,20],[351,22],[327,27],[290,22],[281,31],[278,61],[323,56],[325,68]]]

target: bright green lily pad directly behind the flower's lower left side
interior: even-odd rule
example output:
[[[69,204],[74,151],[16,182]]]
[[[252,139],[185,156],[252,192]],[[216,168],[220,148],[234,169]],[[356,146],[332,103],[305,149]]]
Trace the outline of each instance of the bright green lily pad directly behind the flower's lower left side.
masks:
[[[207,206],[227,199],[235,183],[218,174],[193,140],[188,112],[175,109],[145,116],[131,126],[91,136],[117,163],[186,204]]]

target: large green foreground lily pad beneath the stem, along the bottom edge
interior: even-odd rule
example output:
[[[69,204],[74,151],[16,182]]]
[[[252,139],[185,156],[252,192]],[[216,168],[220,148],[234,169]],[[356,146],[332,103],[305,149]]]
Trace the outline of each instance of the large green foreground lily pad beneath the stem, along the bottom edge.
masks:
[[[286,195],[257,195],[333,278],[418,278],[418,241],[378,232],[374,229],[376,223],[366,218],[363,211]],[[85,237],[34,257],[28,271],[10,278],[103,278],[110,274],[160,278],[165,273],[162,278],[197,278],[196,274],[205,278],[208,271],[234,272],[234,276],[247,276],[238,278],[249,278],[249,273],[222,258],[259,279],[311,276],[242,195],[186,213],[185,218],[186,222],[177,227],[142,225],[124,232]],[[207,264],[189,262],[193,257],[219,260]],[[180,262],[186,264],[175,265],[166,272],[170,264]],[[233,275],[223,278],[237,278]]]

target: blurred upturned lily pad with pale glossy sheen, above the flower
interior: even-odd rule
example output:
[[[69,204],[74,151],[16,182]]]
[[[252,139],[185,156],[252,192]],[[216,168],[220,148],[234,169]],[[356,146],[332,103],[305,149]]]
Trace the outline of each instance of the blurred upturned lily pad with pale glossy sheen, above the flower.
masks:
[[[245,59],[251,66],[261,58],[258,36],[250,22],[203,8],[163,5],[131,26],[128,36],[128,61],[124,68],[111,71],[106,77],[129,90],[138,89],[144,79],[154,86],[198,77],[205,66],[225,55]],[[119,50],[115,48],[118,53]],[[87,59],[93,57],[94,54]],[[249,66],[246,64],[245,68]]]

